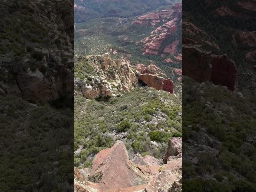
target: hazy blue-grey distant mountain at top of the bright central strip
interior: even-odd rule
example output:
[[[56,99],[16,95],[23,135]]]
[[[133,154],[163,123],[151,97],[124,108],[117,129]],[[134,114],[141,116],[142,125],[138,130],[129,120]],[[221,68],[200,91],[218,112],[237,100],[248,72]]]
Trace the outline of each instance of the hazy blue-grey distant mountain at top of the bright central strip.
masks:
[[[135,16],[171,3],[173,0],[74,0],[75,22],[110,16]]]

